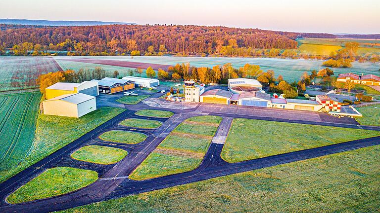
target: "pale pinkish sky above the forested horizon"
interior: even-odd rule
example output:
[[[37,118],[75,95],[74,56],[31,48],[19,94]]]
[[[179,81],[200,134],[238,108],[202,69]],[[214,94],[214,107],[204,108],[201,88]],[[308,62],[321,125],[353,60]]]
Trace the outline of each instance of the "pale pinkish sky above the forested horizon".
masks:
[[[380,0],[0,0],[0,18],[380,34]]]

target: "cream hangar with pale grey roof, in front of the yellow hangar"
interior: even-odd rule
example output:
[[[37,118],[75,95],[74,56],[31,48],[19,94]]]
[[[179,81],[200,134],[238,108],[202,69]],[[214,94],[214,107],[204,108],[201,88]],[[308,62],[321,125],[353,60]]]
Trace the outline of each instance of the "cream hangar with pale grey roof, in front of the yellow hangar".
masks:
[[[81,117],[96,110],[94,96],[83,93],[65,94],[44,101],[44,114],[66,117]]]

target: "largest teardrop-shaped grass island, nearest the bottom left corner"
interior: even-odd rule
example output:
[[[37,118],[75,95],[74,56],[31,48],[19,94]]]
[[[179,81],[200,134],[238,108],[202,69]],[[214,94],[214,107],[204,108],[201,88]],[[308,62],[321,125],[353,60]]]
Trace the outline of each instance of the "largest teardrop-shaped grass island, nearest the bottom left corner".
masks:
[[[97,180],[97,172],[71,167],[55,167],[27,182],[10,194],[11,204],[39,200],[66,194],[90,185]]]

